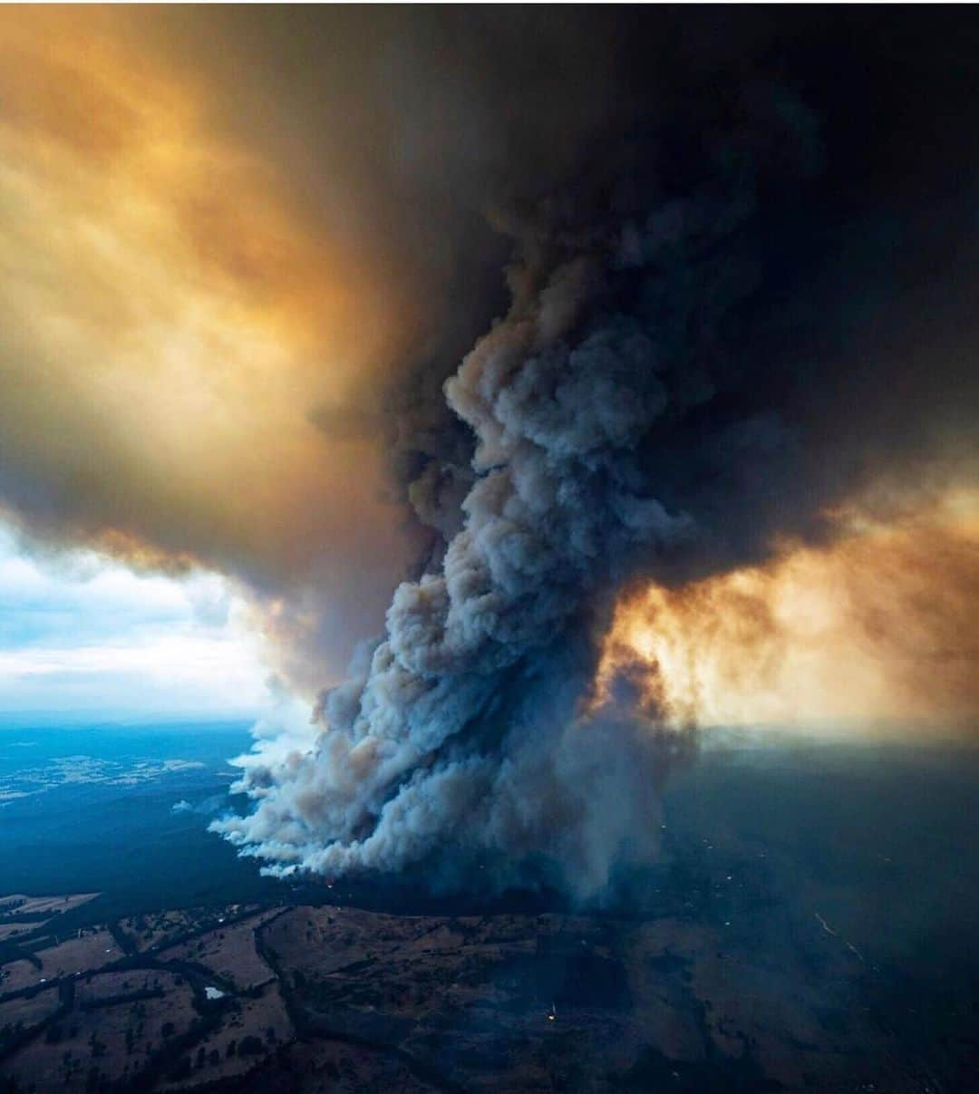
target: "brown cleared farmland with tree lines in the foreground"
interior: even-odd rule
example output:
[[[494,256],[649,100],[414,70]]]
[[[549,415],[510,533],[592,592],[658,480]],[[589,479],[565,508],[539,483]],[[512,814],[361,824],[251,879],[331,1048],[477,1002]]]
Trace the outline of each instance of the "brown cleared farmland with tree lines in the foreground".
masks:
[[[0,951],[0,1090],[941,1089],[817,917],[731,915],[42,921]]]

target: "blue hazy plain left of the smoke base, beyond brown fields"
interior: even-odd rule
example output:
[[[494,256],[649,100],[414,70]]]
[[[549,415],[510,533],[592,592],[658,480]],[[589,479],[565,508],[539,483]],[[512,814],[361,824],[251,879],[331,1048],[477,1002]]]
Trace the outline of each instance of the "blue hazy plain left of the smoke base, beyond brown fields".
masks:
[[[206,831],[248,744],[241,722],[0,730],[0,892],[97,889],[127,910],[257,895]]]

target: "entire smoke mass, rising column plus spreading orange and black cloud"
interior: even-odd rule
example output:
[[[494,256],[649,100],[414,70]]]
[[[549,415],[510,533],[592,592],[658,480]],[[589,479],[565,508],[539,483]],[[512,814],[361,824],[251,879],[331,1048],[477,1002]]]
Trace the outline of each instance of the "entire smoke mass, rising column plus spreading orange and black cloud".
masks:
[[[655,853],[671,723],[793,688],[646,687],[669,666],[611,655],[623,605],[736,644],[725,582],[760,574],[771,649],[792,551],[861,594],[838,657],[904,590],[875,686],[975,710],[971,20],[7,19],[0,501],[39,543],[226,573],[291,685],[331,685],[244,761],[255,811],[218,828],[247,853],[601,891]],[[680,661],[731,664],[685,626]],[[830,713],[879,714],[864,684]]]

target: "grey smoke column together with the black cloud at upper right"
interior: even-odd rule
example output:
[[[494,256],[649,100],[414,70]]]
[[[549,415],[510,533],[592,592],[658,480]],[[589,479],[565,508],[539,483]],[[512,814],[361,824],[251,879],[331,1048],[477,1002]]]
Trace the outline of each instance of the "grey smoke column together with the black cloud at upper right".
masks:
[[[886,499],[888,477],[907,491],[909,468],[922,489],[972,473],[952,458],[975,427],[972,287],[953,258],[976,243],[968,141],[951,135],[924,187],[897,154],[940,50],[916,56],[907,22],[862,39],[877,78],[905,81],[870,95],[847,73],[859,21],[828,39],[783,27],[777,49],[771,30],[733,65],[708,36],[716,67],[664,61],[673,84],[655,91],[629,69],[644,112],[583,138],[536,200],[512,164],[494,219],[513,238],[511,304],[444,384],[471,461],[441,403],[398,419],[403,438],[419,423],[403,472],[443,548],[324,695],[313,747],[250,757],[256,810],[217,826],[271,870],[389,870],[451,848],[543,856],[601,889],[653,853],[656,779],[687,741],[634,711],[585,712],[615,591],[826,537],[834,505],[870,485]]]

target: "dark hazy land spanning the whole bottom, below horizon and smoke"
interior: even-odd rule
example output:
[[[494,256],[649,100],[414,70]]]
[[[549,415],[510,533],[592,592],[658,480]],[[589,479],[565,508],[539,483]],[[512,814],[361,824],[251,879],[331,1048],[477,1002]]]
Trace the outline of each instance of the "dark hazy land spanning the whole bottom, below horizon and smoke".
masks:
[[[7,1089],[975,1089],[975,752],[707,740],[575,908],[258,878],[206,831],[243,726],[7,730]]]

